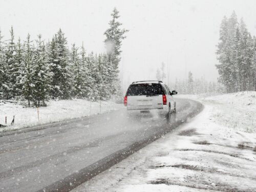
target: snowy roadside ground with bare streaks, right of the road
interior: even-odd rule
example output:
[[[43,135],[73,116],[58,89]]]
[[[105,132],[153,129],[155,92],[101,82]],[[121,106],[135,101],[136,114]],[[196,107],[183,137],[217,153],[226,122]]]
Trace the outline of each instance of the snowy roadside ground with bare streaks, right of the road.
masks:
[[[255,95],[197,97],[197,117],[74,191],[256,191]]]

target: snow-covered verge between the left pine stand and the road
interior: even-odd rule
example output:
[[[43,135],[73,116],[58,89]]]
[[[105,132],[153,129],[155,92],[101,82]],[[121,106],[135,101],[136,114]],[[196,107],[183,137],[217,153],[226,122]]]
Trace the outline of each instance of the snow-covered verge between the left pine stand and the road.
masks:
[[[39,108],[38,120],[37,108],[26,108],[16,103],[0,102],[0,124],[6,125],[5,118],[7,117],[8,125],[7,127],[0,127],[0,132],[20,129],[26,126],[85,117],[121,108],[123,108],[122,104],[117,104],[113,101],[102,101],[100,109],[99,102],[90,102],[84,99],[51,100],[47,103],[46,107]],[[15,116],[14,125],[10,125],[13,116]]]

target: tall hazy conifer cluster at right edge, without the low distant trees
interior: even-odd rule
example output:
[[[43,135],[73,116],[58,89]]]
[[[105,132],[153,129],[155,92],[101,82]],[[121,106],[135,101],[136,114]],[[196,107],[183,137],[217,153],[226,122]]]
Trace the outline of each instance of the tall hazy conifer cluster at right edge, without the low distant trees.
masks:
[[[227,93],[256,91],[256,37],[235,12],[222,19],[217,56],[219,81]]]

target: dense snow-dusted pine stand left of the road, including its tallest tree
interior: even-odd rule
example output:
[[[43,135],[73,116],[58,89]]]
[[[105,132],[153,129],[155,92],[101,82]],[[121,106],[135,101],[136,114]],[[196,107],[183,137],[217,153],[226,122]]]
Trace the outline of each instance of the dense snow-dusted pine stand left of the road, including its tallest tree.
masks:
[[[50,98],[87,98],[108,100],[120,92],[118,64],[121,42],[128,30],[120,29],[119,12],[111,14],[104,32],[106,53],[87,53],[81,47],[68,47],[65,33],[59,29],[51,40],[3,41],[0,31],[0,99],[26,99],[28,106],[45,105]]]

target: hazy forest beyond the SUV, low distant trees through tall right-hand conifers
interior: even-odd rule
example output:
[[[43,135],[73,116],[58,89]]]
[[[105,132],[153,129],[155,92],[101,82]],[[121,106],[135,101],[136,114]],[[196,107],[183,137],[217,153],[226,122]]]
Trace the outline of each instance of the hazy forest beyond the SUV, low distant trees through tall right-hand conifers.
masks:
[[[256,91],[256,37],[248,32],[243,18],[238,22],[234,11],[229,18],[224,16],[221,22],[216,54],[219,61],[216,65],[218,81],[207,81],[204,76],[193,78],[193,73],[189,72],[186,79],[168,82],[169,86],[181,94]],[[165,71],[162,63],[156,78],[164,80],[168,75]]]

